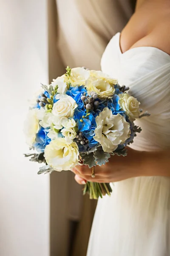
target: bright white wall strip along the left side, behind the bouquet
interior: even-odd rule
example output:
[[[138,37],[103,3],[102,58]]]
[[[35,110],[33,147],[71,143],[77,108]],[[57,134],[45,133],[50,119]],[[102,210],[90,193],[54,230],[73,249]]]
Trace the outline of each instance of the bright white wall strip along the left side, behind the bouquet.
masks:
[[[0,256],[49,256],[49,176],[23,157],[27,99],[48,82],[46,0],[0,0]]]

